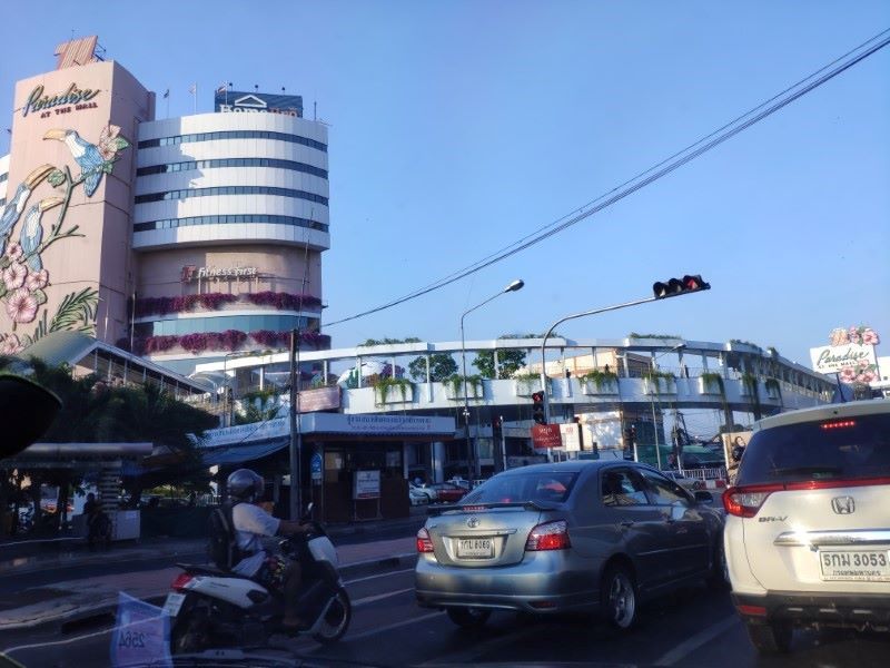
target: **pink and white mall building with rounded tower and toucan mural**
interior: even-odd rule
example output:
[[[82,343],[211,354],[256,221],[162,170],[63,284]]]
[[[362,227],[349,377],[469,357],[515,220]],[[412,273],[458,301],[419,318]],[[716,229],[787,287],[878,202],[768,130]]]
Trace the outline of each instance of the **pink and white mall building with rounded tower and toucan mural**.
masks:
[[[0,157],[0,352],[71,330],[190,374],[197,362],[329,347],[327,127],[299,96],[224,87],[214,111],[156,96],[96,38],[16,84]],[[160,98],[160,99],[159,99]]]

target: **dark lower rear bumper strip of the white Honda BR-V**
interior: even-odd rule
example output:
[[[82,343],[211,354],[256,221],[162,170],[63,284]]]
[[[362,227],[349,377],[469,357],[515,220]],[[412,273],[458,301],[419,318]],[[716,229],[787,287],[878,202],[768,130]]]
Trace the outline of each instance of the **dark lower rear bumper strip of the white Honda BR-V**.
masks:
[[[739,613],[750,622],[788,620],[798,626],[870,627],[890,630],[890,596],[769,591],[765,596],[732,595]]]

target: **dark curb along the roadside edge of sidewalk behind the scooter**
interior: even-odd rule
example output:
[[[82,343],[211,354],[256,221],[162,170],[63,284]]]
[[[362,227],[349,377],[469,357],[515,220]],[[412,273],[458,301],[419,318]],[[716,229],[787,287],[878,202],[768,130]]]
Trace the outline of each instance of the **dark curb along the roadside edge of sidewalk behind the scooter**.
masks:
[[[377,570],[395,569],[400,566],[414,566],[416,561],[416,552],[403,552],[400,554],[393,554],[392,557],[382,557],[375,559],[366,559],[364,561],[355,561],[346,563],[340,567],[340,576],[344,579],[348,577],[362,576]],[[151,603],[152,606],[162,606],[169,588],[165,587],[162,591],[157,593],[151,592],[147,596],[139,597],[141,600]],[[117,595],[115,595],[117,597]],[[86,605],[72,610],[68,610],[56,617],[48,617],[32,621],[21,621],[3,625],[0,631],[0,639],[7,633],[14,633],[18,631],[53,631],[56,633],[66,633],[72,630],[72,627],[88,626],[90,622],[100,620],[101,618],[113,615],[117,610],[118,602],[116,600],[107,600],[99,603]]]

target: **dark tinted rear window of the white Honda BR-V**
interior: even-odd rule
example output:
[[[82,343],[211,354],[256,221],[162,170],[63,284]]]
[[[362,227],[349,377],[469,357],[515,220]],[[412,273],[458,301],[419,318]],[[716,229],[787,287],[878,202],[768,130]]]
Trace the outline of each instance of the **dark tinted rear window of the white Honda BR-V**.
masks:
[[[736,484],[890,477],[890,414],[832,418],[756,432]]]

